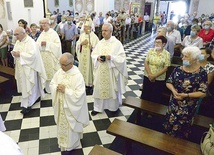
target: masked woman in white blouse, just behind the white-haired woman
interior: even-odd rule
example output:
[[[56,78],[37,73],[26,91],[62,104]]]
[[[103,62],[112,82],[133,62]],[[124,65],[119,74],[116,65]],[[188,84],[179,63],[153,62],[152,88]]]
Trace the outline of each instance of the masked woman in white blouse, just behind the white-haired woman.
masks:
[[[198,48],[203,47],[203,39],[198,36],[198,33],[200,32],[201,28],[198,25],[193,25],[191,27],[190,35],[186,36],[181,43],[182,46],[196,46]]]

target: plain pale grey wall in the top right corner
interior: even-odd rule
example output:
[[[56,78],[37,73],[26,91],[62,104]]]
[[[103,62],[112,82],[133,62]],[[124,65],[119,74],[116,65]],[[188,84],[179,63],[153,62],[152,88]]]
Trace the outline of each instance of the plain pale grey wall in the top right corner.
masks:
[[[199,0],[199,7],[198,7],[198,16],[201,14],[208,14],[214,13],[214,0]]]

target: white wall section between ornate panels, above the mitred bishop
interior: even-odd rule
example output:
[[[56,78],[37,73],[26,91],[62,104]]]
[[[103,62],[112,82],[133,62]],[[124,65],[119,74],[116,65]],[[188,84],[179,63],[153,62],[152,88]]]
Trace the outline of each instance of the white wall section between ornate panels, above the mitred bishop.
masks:
[[[99,12],[105,14],[110,11],[114,10],[114,0],[94,0],[94,10],[99,14]]]

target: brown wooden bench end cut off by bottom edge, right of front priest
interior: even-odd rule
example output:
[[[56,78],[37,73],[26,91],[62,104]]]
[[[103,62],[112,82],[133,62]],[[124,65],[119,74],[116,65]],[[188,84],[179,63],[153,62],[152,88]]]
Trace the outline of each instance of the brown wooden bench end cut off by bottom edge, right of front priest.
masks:
[[[122,155],[99,145],[95,145],[88,155]]]

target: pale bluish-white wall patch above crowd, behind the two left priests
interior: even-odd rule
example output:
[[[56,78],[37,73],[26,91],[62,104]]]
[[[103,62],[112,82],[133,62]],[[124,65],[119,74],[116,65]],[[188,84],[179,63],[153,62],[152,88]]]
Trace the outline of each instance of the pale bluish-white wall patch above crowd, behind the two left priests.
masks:
[[[59,6],[55,6],[54,0],[47,0],[48,1],[48,9],[53,13],[53,11],[56,11],[56,9],[59,9],[59,12],[62,13],[62,11],[70,10],[73,11],[74,7],[69,6],[69,0],[59,0]],[[73,0],[74,5],[74,0]]]

